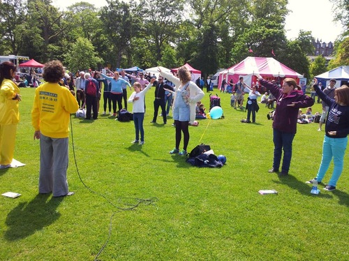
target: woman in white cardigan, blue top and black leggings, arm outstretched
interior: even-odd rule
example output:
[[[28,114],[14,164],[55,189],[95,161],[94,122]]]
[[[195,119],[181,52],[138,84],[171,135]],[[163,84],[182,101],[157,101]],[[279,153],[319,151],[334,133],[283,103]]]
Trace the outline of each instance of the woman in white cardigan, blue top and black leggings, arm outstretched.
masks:
[[[174,119],[174,126],[176,127],[176,147],[170,151],[170,154],[186,155],[186,149],[189,143],[189,121],[195,120],[195,105],[196,102],[202,99],[205,95],[202,89],[191,82],[191,73],[182,66],[178,69],[175,77],[171,73],[165,73],[158,68],[160,74],[174,83],[174,100],[172,107],[172,115]],[[179,144],[181,142],[181,133],[184,135],[183,149],[179,151]]]

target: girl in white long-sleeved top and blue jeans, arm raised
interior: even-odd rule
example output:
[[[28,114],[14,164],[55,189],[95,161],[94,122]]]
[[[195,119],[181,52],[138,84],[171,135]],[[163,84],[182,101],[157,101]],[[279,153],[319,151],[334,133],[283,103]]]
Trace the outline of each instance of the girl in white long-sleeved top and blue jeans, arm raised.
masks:
[[[135,124],[135,140],[132,142],[133,144],[144,144],[144,96],[154,82],[155,78],[151,78],[150,83],[143,90],[140,82],[135,82],[133,84],[133,89],[135,91],[133,91],[130,98],[128,98],[128,103],[133,103],[132,112],[133,122]]]

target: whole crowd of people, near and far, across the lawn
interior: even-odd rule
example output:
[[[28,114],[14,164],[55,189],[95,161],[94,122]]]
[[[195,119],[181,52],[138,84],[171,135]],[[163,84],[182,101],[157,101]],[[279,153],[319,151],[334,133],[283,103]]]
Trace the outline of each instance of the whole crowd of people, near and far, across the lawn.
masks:
[[[11,62],[0,65],[0,168],[10,166],[15,150],[15,133],[19,118],[20,88],[16,80],[16,66]],[[45,64],[42,74],[34,73],[43,78],[44,84],[36,88],[34,105],[31,112],[34,127],[34,139],[40,140],[40,174],[39,193],[52,193],[54,197],[70,195],[66,170],[68,167],[68,122],[70,114],[80,108],[86,108],[86,119],[98,119],[99,103],[103,94],[103,115],[117,117],[121,109],[127,110],[127,103],[133,103],[133,121],[135,140],[133,144],[144,144],[144,112],[145,96],[154,87],[154,117],[156,124],[158,110],[161,107],[163,124],[172,107],[174,120],[174,149],[170,154],[184,156],[188,153],[189,128],[195,119],[206,119],[205,105],[201,103],[205,84],[207,92],[211,81],[206,83],[202,78],[199,85],[191,81],[191,72],[186,67],[178,69],[177,75],[158,69],[158,78],[142,71],[128,74],[124,70],[78,72],[75,75],[66,71],[60,61],[49,61]],[[237,109],[247,110],[245,122],[255,123],[255,112],[258,112],[258,97],[260,103],[275,109],[273,112],[273,142],[274,161],[269,172],[277,172],[279,176],[287,176],[292,158],[292,141],[297,132],[297,120],[311,119],[314,121],[311,106],[315,102],[312,91],[322,100],[322,116],[319,130],[325,124],[325,139],[323,154],[318,174],[314,179],[321,182],[327,172],[329,163],[334,160],[334,171],[327,191],[336,189],[336,183],[343,170],[343,156],[346,151],[349,133],[349,88],[346,85],[336,89],[336,80],[329,81],[329,86],[323,90],[314,79],[315,85],[311,96],[304,94],[304,88],[297,85],[292,78],[283,79],[282,86],[275,81],[265,80],[256,75],[258,81],[251,87],[244,82],[230,82],[228,93],[231,92],[230,105]],[[203,82],[203,83],[202,83]],[[132,94],[128,97],[127,90]],[[248,91],[247,91],[248,90]],[[263,91],[263,95],[260,91]],[[248,93],[246,107],[244,94]],[[124,101],[124,105],[123,105]],[[320,101],[319,101],[320,102]],[[117,107],[119,110],[117,110]],[[302,108],[307,108],[302,113]],[[109,114],[107,114],[109,112]],[[251,118],[252,117],[252,118]],[[326,119],[326,120],[325,120]],[[181,140],[183,136],[183,144]],[[281,162],[282,159],[282,162]],[[281,167],[281,171],[280,170]]]

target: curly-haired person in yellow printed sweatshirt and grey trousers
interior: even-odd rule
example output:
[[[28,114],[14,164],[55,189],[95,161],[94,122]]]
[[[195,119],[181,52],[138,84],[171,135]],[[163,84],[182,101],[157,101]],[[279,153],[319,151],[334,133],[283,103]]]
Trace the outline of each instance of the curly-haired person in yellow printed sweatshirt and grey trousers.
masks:
[[[64,77],[61,61],[44,66],[43,79],[35,92],[31,124],[34,140],[40,139],[39,193],[53,197],[72,195],[68,191],[68,132],[70,114],[79,109],[77,100],[58,82]]]

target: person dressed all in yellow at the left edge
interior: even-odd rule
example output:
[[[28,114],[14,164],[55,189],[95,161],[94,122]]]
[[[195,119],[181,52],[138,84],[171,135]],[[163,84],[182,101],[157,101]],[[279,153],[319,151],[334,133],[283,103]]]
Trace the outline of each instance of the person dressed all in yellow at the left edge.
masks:
[[[13,82],[16,66],[10,61],[0,65],[0,169],[10,167],[15,152],[20,88]]]

